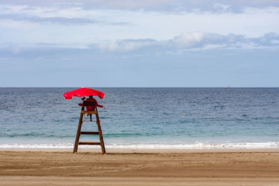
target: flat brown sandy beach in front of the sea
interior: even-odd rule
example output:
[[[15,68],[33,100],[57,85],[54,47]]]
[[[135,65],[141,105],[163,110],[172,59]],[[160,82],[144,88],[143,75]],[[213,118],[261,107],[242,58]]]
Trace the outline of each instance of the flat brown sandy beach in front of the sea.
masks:
[[[38,184],[279,185],[279,150],[0,150],[0,185]]]

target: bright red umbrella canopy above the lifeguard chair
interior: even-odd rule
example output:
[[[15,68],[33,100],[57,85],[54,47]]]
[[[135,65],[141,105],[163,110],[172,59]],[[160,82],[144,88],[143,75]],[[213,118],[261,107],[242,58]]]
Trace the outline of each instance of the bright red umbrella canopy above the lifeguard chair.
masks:
[[[105,93],[94,90],[92,88],[83,88],[83,87],[78,88],[77,90],[74,90],[74,91],[70,91],[68,93],[63,93],[65,100],[72,99],[73,96],[84,97],[84,96],[89,96],[89,95],[98,96],[99,98],[103,99],[105,96]]]

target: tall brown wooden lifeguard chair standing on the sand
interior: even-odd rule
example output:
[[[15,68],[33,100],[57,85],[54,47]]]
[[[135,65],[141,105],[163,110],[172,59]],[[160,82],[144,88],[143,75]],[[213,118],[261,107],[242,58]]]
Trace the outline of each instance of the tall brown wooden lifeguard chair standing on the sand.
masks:
[[[86,111],[84,110],[84,107],[86,106],[93,106],[95,109],[94,110],[90,110],[90,111]],[[82,123],[85,121],[85,115],[84,114],[89,114],[90,115],[90,121],[92,122],[92,114],[95,114],[96,116],[96,124],[98,126],[98,132],[89,132],[89,131],[81,131],[82,130]],[[100,137],[100,142],[80,142],[80,135],[81,134],[93,134],[93,135],[99,135]],[[77,147],[78,145],[100,145],[102,148],[102,154],[105,154],[105,144],[104,144],[104,140],[103,140],[103,133],[102,133],[102,129],[100,127],[100,120],[99,120],[99,116],[98,116],[98,110],[96,107],[96,102],[93,100],[84,100],[82,102],[82,110],[80,111],[80,122],[79,125],[77,127],[77,136],[75,137],[75,146],[74,146],[74,150],[73,153],[77,152]]]

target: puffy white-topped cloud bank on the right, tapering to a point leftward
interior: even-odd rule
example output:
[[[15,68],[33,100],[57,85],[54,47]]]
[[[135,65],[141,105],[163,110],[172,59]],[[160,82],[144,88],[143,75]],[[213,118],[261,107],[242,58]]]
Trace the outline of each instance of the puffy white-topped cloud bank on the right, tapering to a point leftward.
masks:
[[[160,49],[161,51],[183,51],[193,49],[232,49],[244,47],[279,47],[279,35],[266,33],[259,38],[246,38],[243,35],[229,33],[190,32],[174,36],[171,40],[116,40],[105,44],[91,45],[97,49],[110,52],[129,52],[141,49]]]

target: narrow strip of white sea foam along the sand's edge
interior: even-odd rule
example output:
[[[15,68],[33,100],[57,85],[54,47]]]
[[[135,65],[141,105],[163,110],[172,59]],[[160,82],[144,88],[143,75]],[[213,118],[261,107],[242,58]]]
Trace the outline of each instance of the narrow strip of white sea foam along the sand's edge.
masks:
[[[106,144],[106,148],[113,149],[211,149],[211,148],[279,148],[279,142],[266,143],[227,143],[227,144]],[[2,149],[58,149],[73,148],[73,144],[0,144]],[[79,148],[100,148],[100,146],[80,146]]]

